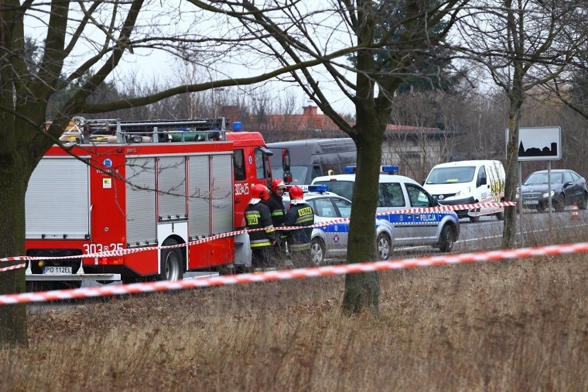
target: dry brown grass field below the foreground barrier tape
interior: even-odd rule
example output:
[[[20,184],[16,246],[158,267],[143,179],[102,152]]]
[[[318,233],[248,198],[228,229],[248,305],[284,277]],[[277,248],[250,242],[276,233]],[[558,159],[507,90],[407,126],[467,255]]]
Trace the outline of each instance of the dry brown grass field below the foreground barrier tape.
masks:
[[[585,235],[579,235],[585,237]],[[574,241],[579,242],[579,241]],[[28,315],[1,391],[588,391],[588,255],[114,297]]]

